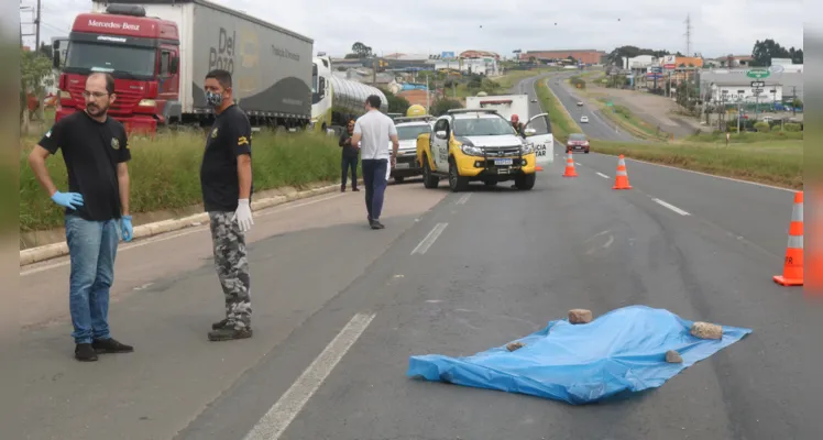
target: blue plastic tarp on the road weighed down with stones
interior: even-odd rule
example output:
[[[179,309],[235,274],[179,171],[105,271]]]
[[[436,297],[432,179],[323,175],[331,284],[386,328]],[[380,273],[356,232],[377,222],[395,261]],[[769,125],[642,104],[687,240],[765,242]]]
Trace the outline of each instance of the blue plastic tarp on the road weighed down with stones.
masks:
[[[595,403],[624,391],[656,388],[751,330],[723,327],[723,339],[692,337],[692,321],[662,309],[630,306],[588,324],[556,320],[509,352],[506,345],[468,358],[412,356],[407,375],[478,388]],[[514,341],[513,341],[514,342]],[[676,350],[681,364],[666,362]]]

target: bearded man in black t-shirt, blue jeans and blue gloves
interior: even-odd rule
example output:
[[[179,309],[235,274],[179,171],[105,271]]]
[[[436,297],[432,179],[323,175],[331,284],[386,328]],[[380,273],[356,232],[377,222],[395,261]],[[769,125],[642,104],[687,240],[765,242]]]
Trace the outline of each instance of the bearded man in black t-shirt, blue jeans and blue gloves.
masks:
[[[132,238],[125,165],[131,153],[123,124],[107,116],[116,99],[114,78],[90,75],[84,96],[86,110],[55,123],[29,155],[29,164],[52,200],[65,208],[75,358],[97,361],[97,353],[133,351],[111,338],[108,323],[118,231],[125,241]],[[57,150],[66,163],[68,193],[57,190],[46,168],[46,158]]]

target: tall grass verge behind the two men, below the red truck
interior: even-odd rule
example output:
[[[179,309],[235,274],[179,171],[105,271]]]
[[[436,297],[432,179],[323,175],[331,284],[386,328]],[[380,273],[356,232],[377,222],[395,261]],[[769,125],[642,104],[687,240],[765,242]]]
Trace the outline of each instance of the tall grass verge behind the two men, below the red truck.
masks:
[[[37,141],[21,140],[21,232],[63,226],[63,210],[48,199],[28,164],[28,154]],[[204,135],[168,133],[154,141],[134,139],[130,143],[132,212],[175,211],[202,201],[199,173]],[[254,135],[253,148],[255,191],[284,186],[299,188],[340,176],[340,147],[333,136],[263,132]],[[66,167],[59,152],[47,161],[47,166],[57,188],[67,190]]]

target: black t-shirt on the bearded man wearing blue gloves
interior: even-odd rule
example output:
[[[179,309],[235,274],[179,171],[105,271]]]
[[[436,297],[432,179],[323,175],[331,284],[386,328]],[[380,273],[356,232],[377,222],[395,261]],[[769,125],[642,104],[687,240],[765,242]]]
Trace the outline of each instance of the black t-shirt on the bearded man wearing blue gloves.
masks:
[[[68,172],[68,191],[83,195],[84,206],[66,213],[77,213],[89,221],[107,221],[121,216],[118,164],[131,160],[123,124],[111,117],[98,122],[85,111],[57,121],[40,146],[55,154],[63,152]]]

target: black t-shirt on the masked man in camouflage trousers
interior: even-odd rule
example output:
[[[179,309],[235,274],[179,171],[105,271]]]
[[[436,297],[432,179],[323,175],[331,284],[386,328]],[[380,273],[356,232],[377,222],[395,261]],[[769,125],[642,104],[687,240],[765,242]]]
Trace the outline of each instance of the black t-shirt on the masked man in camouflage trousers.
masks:
[[[238,209],[240,178],[238,156],[252,154],[252,127],[238,107],[231,106],[215,119],[200,165],[200,187],[206,211]]]

